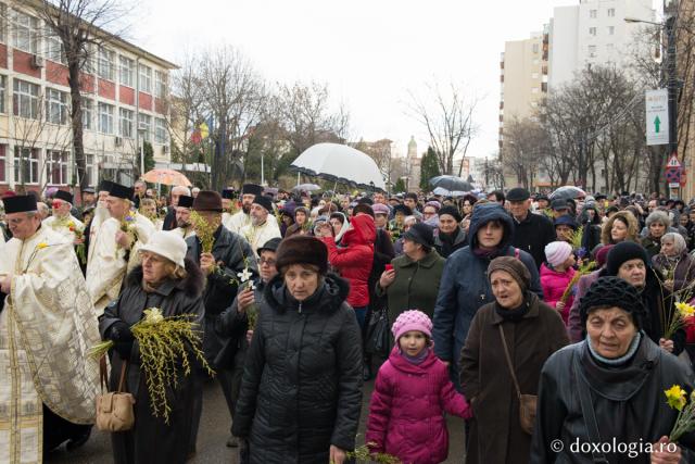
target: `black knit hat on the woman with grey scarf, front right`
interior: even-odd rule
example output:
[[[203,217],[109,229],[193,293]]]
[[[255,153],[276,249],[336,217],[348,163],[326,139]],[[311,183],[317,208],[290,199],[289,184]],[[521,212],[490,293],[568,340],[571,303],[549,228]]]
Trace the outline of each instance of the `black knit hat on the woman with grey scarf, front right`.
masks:
[[[614,249],[615,250],[615,249]],[[586,319],[593,309],[620,308],[630,313],[632,322],[642,328],[642,322],[646,317],[646,310],[634,286],[619,277],[601,277],[589,287],[586,293],[579,302],[579,316],[582,327],[586,327]]]

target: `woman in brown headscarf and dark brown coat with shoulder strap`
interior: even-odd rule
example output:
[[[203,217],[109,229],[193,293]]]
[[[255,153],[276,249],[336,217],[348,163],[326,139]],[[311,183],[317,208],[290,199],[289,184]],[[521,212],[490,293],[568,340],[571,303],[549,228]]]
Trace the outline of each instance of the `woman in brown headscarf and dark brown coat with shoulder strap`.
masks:
[[[460,385],[473,407],[466,463],[528,463],[531,435],[521,428],[515,384],[536,394],[543,364],[569,340],[555,309],[529,290],[521,261],[495,258],[488,279],[495,301],[473,317],[460,355]]]

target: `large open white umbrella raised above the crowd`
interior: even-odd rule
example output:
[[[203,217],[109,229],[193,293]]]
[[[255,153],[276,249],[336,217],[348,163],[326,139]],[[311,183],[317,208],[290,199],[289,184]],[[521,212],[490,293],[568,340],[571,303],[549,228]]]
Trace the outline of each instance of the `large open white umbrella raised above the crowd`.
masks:
[[[346,145],[317,143],[304,150],[290,168],[326,180],[386,190],[377,163]]]

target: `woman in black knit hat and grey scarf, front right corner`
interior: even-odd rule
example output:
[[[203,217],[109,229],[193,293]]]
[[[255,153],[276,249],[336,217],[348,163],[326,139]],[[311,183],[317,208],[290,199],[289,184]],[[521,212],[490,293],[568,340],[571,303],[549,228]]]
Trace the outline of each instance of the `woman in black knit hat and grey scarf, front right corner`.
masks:
[[[668,446],[679,412],[664,393],[674,385],[690,393],[692,377],[642,331],[646,311],[637,289],[602,277],[582,298],[580,313],[586,339],[553,354],[541,372],[530,462],[693,462],[692,434]],[[606,449],[610,441],[632,447],[635,455]],[[664,446],[652,451],[654,443]]]

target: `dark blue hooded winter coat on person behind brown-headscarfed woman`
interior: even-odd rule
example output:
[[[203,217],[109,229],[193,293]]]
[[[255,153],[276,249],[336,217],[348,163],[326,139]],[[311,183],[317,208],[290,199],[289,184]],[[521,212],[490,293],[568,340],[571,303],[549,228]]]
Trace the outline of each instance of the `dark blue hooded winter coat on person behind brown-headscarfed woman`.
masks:
[[[500,221],[504,226],[504,235],[500,243],[500,252],[490,258],[477,256],[473,250],[478,248],[478,229],[491,221]],[[488,280],[488,265],[497,256],[514,256],[519,260],[531,274],[530,290],[543,299],[541,279],[535,267],[533,256],[523,250],[511,247],[514,222],[511,216],[496,203],[485,203],[476,206],[468,229],[470,244],[456,250],[446,260],[444,273],[434,305],[434,353],[443,361],[451,362],[453,380],[460,389],[458,380],[458,359],[464,348],[470,322],[478,310],[494,301],[492,288]]]

